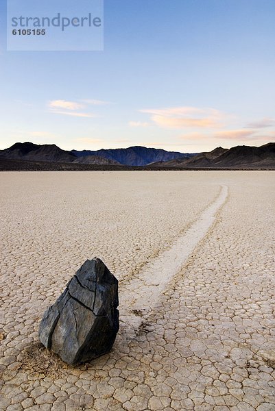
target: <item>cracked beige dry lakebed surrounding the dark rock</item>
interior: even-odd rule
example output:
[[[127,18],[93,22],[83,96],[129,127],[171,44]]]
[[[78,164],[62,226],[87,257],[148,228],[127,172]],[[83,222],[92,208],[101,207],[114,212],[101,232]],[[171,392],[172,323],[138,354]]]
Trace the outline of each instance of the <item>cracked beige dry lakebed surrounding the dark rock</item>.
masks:
[[[0,173],[1,410],[275,410],[273,171]],[[272,249],[273,246],[273,249]],[[87,258],[119,279],[112,351],[38,341]]]

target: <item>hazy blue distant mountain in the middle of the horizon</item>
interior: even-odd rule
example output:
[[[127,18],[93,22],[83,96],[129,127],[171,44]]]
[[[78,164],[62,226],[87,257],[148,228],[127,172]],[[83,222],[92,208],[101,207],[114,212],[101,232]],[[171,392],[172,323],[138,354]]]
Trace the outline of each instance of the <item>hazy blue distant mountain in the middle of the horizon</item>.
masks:
[[[189,153],[179,153],[176,151],[165,151],[163,149],[151,149],[141,146],[129,147],[128,149],[101,149],[96,151],[72,150],[71,153],[77,155],[77,157],[85,155],[99,155],[100,157],[115,160],[120,164],[125,164],[127,166],[146,166],[152,162],[168,161],[175,158],[191,158],[195,155]]]

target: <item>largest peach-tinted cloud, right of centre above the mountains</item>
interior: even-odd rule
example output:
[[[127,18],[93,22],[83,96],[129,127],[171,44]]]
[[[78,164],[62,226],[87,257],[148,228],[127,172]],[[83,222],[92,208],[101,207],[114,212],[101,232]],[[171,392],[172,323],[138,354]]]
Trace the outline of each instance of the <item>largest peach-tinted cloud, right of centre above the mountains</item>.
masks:
[[[146,109],[140,112],[150,114],[150,119],[163,128],[213,128],[222,127],[224,114],[214,108],[173,107]]]

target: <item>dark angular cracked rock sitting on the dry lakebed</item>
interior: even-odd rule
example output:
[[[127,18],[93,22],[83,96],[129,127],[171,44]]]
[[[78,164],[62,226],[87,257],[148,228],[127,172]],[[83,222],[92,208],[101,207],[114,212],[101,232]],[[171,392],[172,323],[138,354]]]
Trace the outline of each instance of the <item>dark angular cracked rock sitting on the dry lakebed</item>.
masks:
[[[67,364],[93,360],[112,348],[119,330],[118,281],[106,265],[86,260],[40,323],[39,338]]]

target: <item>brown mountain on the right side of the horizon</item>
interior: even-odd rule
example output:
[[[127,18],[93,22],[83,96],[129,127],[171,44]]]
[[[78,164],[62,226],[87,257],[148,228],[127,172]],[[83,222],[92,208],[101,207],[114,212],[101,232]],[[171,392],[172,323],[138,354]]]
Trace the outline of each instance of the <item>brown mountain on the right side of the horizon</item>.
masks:
[[[231,149],[217,147],[209,153],[200,153],[187,160],[176,159],[152,165],[178,168],[275,169],[275,142],[269,142],[261,147],[244,145]]]

